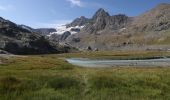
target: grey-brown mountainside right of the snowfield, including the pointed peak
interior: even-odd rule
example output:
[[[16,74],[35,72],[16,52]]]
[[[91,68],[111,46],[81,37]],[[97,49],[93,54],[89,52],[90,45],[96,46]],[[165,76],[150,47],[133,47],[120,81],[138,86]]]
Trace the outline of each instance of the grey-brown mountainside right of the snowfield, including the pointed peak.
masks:
[[[100,8],[66,42],[93,50],[170,48],[170,4],[160,4],[136,17],[110,15]]]

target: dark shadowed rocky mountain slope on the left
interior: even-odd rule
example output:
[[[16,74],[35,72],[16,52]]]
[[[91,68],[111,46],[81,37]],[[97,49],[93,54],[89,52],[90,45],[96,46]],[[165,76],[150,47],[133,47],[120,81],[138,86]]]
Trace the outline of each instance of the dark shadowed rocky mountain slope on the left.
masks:
[[[66,51],[63,46],[30,29],[32,30],[30,27],[17,25],[0,17],[0,49],[13,54],[44,54]]]

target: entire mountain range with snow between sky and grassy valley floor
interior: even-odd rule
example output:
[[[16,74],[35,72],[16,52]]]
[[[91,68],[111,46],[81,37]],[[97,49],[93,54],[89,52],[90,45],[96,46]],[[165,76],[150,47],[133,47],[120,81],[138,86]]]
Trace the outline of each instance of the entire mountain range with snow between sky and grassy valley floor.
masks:
[[[136,17],[110,15],[100,8],[57,28],[33,29],[0,18],[0,49],[14,54],[80,50],[170,48],[170,4],[160,4]],[[146,47],[146,48],[145,48]]]

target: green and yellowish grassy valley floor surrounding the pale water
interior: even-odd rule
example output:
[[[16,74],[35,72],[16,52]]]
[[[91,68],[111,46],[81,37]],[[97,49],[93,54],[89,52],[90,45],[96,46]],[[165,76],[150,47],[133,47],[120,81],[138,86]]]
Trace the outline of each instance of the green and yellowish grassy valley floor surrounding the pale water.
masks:
[[[0,100],[169,100],[170,67],[82,68],[65,58],[138,59],[170,52],[82,52],[1,58]]]

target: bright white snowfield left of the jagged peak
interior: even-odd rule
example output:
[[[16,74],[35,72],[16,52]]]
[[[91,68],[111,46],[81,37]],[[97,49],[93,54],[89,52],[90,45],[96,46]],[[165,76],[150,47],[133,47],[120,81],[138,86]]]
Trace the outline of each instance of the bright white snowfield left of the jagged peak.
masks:
[[[80,29],[81,30],[83,27],[84,26],[75,26],[75,27],[67,28],[66,25],[57,26],[56,27],[56,31],[57,32],[51,32],[50,35],[48,35],[48,36],[51,36],[52,34],[63,34],[66,31],[69,31],[71,34],[76,34],[77,32],[76,31],[71,31],[71,29],[76,28],[76,29]]]

